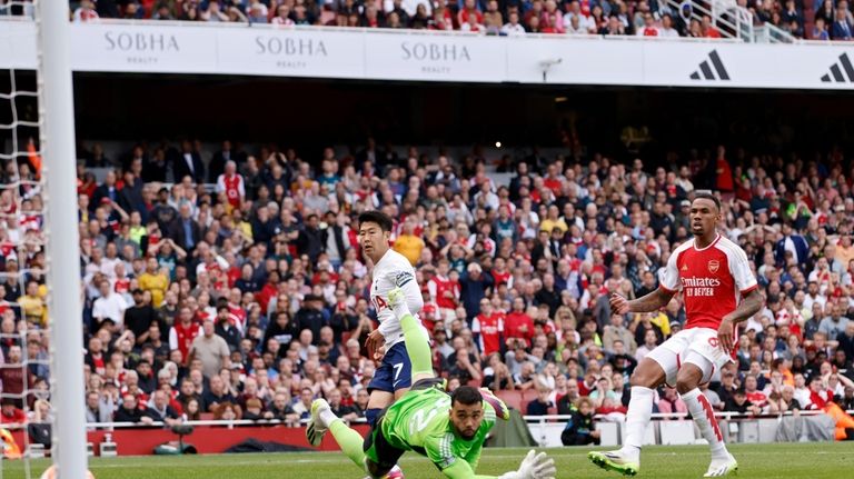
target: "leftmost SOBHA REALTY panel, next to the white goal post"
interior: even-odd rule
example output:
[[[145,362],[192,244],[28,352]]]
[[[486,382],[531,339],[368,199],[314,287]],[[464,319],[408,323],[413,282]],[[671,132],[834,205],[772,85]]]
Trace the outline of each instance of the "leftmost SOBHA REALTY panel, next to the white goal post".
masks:
[[[216,30],[203,27],[72,23],[76,71],[218,73]]]

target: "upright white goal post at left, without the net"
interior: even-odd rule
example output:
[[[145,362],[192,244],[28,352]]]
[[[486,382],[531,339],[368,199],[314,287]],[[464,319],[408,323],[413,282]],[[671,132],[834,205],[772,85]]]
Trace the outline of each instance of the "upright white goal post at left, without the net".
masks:
[[[60,479],[87,477],[75,110],[68,2],[38,0],[38,87],[46,176],[51,331],[52,460]]]

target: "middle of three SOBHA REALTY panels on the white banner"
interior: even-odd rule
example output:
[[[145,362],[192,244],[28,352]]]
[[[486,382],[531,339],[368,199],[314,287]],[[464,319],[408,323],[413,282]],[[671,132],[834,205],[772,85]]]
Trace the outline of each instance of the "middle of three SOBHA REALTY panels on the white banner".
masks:
[[[277,77],[363,78],[364,36],[321,29],[220,29],[222,73]]]

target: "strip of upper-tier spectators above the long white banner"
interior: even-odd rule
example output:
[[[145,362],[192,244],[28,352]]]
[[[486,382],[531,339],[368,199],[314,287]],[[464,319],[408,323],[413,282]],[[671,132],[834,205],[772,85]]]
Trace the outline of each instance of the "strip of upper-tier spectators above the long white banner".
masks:
[[[713,2],[699,2],[709,11]],[[724,4],[725,2],[716,1]],[[773,24],[805,38],[802,0],[734,0],[755,24]],[[808,38],[851,40],[854,18],[847,0],[813,2]],[[691,19],[664,0],[81,0],[72,1],[73,21],[99,18],[458,30],[494,36],[719,38],[709,16]],[[688,19],[688,20],[686,20]]]

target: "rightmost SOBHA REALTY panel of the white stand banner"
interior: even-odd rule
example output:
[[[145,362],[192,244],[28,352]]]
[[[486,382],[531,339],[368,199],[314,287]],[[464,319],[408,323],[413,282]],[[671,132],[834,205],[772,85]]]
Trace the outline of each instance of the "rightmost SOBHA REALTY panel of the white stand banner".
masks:
[[[467,34],[365,33],[365,73],[377,80],[506,80],[507,39]]]

